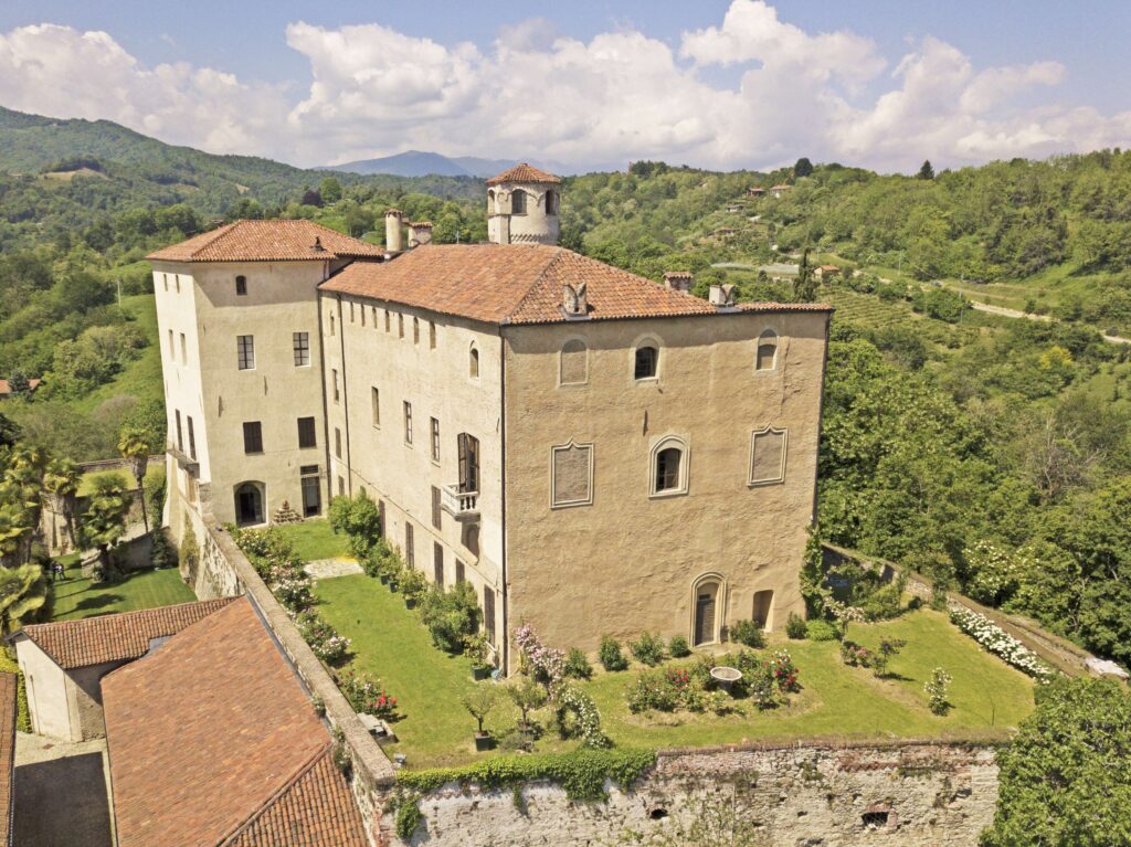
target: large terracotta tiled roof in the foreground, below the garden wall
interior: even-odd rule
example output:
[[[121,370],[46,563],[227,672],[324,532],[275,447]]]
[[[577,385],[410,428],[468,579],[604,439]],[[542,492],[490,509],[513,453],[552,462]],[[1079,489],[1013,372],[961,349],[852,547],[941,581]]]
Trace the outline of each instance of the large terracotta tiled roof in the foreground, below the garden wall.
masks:
[[[119,847],[365,847],[331,741],[241,597],[102,681]]]

